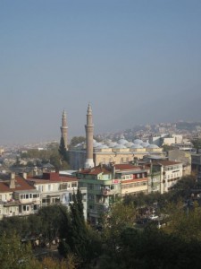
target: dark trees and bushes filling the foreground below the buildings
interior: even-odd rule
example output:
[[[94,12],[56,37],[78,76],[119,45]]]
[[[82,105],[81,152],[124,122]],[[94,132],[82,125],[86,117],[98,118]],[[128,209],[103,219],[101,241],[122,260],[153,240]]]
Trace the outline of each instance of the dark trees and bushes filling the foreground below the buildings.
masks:
[[[197,187],[195,178],[183,178],[168,194],[117,200],[103,214],[101,231],[84,221],[80,191],[73,195],[70,211],[54,205],[27,219],[4,219],[0,222],[1,268],[200,268],[200,207],[197,202],[184,206],[190,190]],[[158,229],[157,221],[149,221],[139,229],[139,209],[155,203],[157,213],[166,216],[165,225]],[[61,258],[46,256],[38,261],[32,252],[35,239],[49,248],[59,239]]]

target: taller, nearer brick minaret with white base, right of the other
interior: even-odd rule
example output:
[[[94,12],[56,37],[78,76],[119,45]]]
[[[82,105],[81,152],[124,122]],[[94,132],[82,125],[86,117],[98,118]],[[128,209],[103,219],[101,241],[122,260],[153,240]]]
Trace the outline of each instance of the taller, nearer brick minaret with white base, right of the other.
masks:
[[[93,161],[93,134],[94,134],[94,125],[92,122],[92,109],[90,104],[88,104],[88,114],[87,114],[87,125],[85,126],[86,130],[86,143],[87,143],[87,156],[85,161],[85,168],[94,167]]]

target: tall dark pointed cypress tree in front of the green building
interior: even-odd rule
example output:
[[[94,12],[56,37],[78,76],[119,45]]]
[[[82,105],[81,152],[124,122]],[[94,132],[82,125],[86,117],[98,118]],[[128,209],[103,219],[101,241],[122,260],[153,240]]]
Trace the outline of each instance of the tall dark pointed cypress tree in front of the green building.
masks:
[[[72,195],[70,215],[63,213],[62,237],[59,252],[63,256],[75,255],[80,265],[88,263],[101,249],[100,239],[90,230],[84,220],[80,190]],[[93,246],[96,246],[94,249]]]

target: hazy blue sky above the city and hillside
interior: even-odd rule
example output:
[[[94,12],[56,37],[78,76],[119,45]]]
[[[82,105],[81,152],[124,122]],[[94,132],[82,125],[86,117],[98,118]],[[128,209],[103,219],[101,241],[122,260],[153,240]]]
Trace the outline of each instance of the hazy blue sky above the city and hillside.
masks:
[[[200,0],[0,0],[0,145],[201,121]]]

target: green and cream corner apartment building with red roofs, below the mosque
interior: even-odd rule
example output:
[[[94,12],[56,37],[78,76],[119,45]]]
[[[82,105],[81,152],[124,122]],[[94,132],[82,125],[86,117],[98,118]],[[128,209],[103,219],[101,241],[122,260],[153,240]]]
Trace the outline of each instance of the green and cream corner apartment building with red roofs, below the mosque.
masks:
[[[117,196],[147,194],[147,172],[131,164],[80,169],[76,176],[79,186],[88,188],[88,221],[92,224],[99,222]]]

